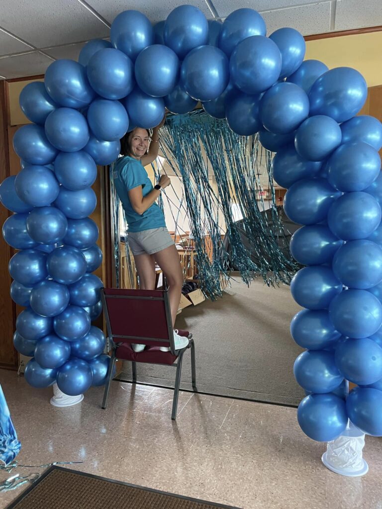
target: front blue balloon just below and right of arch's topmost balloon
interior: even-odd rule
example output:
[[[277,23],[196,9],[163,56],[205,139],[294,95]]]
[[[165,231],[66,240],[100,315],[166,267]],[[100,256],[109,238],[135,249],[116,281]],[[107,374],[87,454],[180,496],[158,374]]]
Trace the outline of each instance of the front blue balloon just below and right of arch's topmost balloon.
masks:
[[[216,99],[226,90],[230,79],[227,56],[215,46],[199,46],[183,60],[180,76],[184,90],[194,99]]]

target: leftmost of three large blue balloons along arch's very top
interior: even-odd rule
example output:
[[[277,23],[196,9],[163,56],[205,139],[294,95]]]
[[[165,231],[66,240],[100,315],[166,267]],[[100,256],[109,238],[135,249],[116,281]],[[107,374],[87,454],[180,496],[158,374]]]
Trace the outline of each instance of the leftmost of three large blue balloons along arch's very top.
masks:
[[[123,11],[112,23],[110,40],[115,48],[134,61],[144,48],[153,44],[153,27],[141,12]]]

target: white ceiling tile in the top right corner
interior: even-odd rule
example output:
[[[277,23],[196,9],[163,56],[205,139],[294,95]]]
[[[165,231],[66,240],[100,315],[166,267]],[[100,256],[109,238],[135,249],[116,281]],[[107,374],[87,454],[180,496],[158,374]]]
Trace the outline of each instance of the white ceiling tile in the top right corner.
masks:
[[[382,25],[381,0],[337,0],[335,30]]]

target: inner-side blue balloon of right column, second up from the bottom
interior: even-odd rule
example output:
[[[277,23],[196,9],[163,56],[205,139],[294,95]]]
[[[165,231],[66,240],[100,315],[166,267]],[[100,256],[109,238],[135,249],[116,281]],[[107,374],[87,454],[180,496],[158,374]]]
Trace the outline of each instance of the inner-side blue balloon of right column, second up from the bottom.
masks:
[[[307,350],[300,354],[294,362],[293,374],[298,385],[315,394],[332,392],[344,379],[336,366],[334,353],[325,350]]]

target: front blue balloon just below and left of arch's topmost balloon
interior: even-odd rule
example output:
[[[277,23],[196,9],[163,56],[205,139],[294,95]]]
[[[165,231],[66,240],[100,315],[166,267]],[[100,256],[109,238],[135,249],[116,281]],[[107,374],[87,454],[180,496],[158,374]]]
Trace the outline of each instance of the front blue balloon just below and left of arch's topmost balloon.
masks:
[[[143,49],[135,60],[135,79],[147,95],[164,97],[175,88],[179,78],[179,59],[176,53],[162,44]]]

